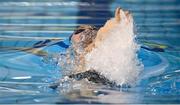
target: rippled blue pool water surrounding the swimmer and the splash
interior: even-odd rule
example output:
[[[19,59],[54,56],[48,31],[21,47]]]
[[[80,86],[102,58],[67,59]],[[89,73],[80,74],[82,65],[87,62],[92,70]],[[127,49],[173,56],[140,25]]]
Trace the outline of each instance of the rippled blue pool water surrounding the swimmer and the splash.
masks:
[[[102,26],[116,7],[133,13],[138,58],[137,86],[49,85],[62,78],[55,59],[81,24]],[[1,0],[0,104],[180,103],[180,2],[177,0]],[[70,86],[73,89],[70,89]]]

